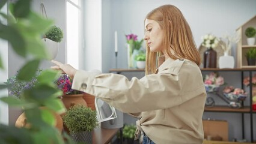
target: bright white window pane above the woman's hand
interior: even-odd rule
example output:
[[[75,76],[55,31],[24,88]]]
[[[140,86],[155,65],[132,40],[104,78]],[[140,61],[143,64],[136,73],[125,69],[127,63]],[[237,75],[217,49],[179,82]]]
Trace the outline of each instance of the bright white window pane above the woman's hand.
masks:
[[[67,0],[67,64],[79,68],[81,1]]]

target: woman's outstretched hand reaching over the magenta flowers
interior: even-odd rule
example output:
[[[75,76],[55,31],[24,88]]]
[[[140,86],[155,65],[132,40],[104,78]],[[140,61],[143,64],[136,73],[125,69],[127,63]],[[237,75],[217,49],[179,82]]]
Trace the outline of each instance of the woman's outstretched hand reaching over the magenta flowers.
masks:
[[[77,70],[76,70],[76,68],[73,68],[71,65],[62,64],[61,62],[58,62],[58,61],[55,61],[55,60],[52,60],[52,63],[56,64],[55,66],[50,67],[53,70],[61,70],[62,73],[66,73],[72,79],[75,76]]]

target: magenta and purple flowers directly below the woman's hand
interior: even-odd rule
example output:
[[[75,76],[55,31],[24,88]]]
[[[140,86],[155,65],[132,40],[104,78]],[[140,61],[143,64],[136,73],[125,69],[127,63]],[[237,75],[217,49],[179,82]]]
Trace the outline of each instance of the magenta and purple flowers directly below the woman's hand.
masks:
[[[67,74],[61,74],[55,81],[56,86],[63,92],[64,95],[82,94],[81,91],[72,89],[72,79]]]

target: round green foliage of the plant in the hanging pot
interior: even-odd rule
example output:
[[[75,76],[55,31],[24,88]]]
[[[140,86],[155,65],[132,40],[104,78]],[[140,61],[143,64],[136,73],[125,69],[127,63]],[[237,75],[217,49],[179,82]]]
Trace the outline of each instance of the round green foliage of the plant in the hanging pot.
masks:
[[[62,41],[63,31],[61,28],[55,25],[51,26],[49,31],[46,32],[46,38],[49,38],[50,40],[59,43]]]

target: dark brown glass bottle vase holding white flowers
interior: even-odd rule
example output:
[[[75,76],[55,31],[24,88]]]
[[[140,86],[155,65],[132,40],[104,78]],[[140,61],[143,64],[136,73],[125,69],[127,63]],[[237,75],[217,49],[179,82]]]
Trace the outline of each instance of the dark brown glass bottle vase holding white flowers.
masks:
[[[204,52],[204,68],[217,67],[217,52],[212,47],[207,48]]]

